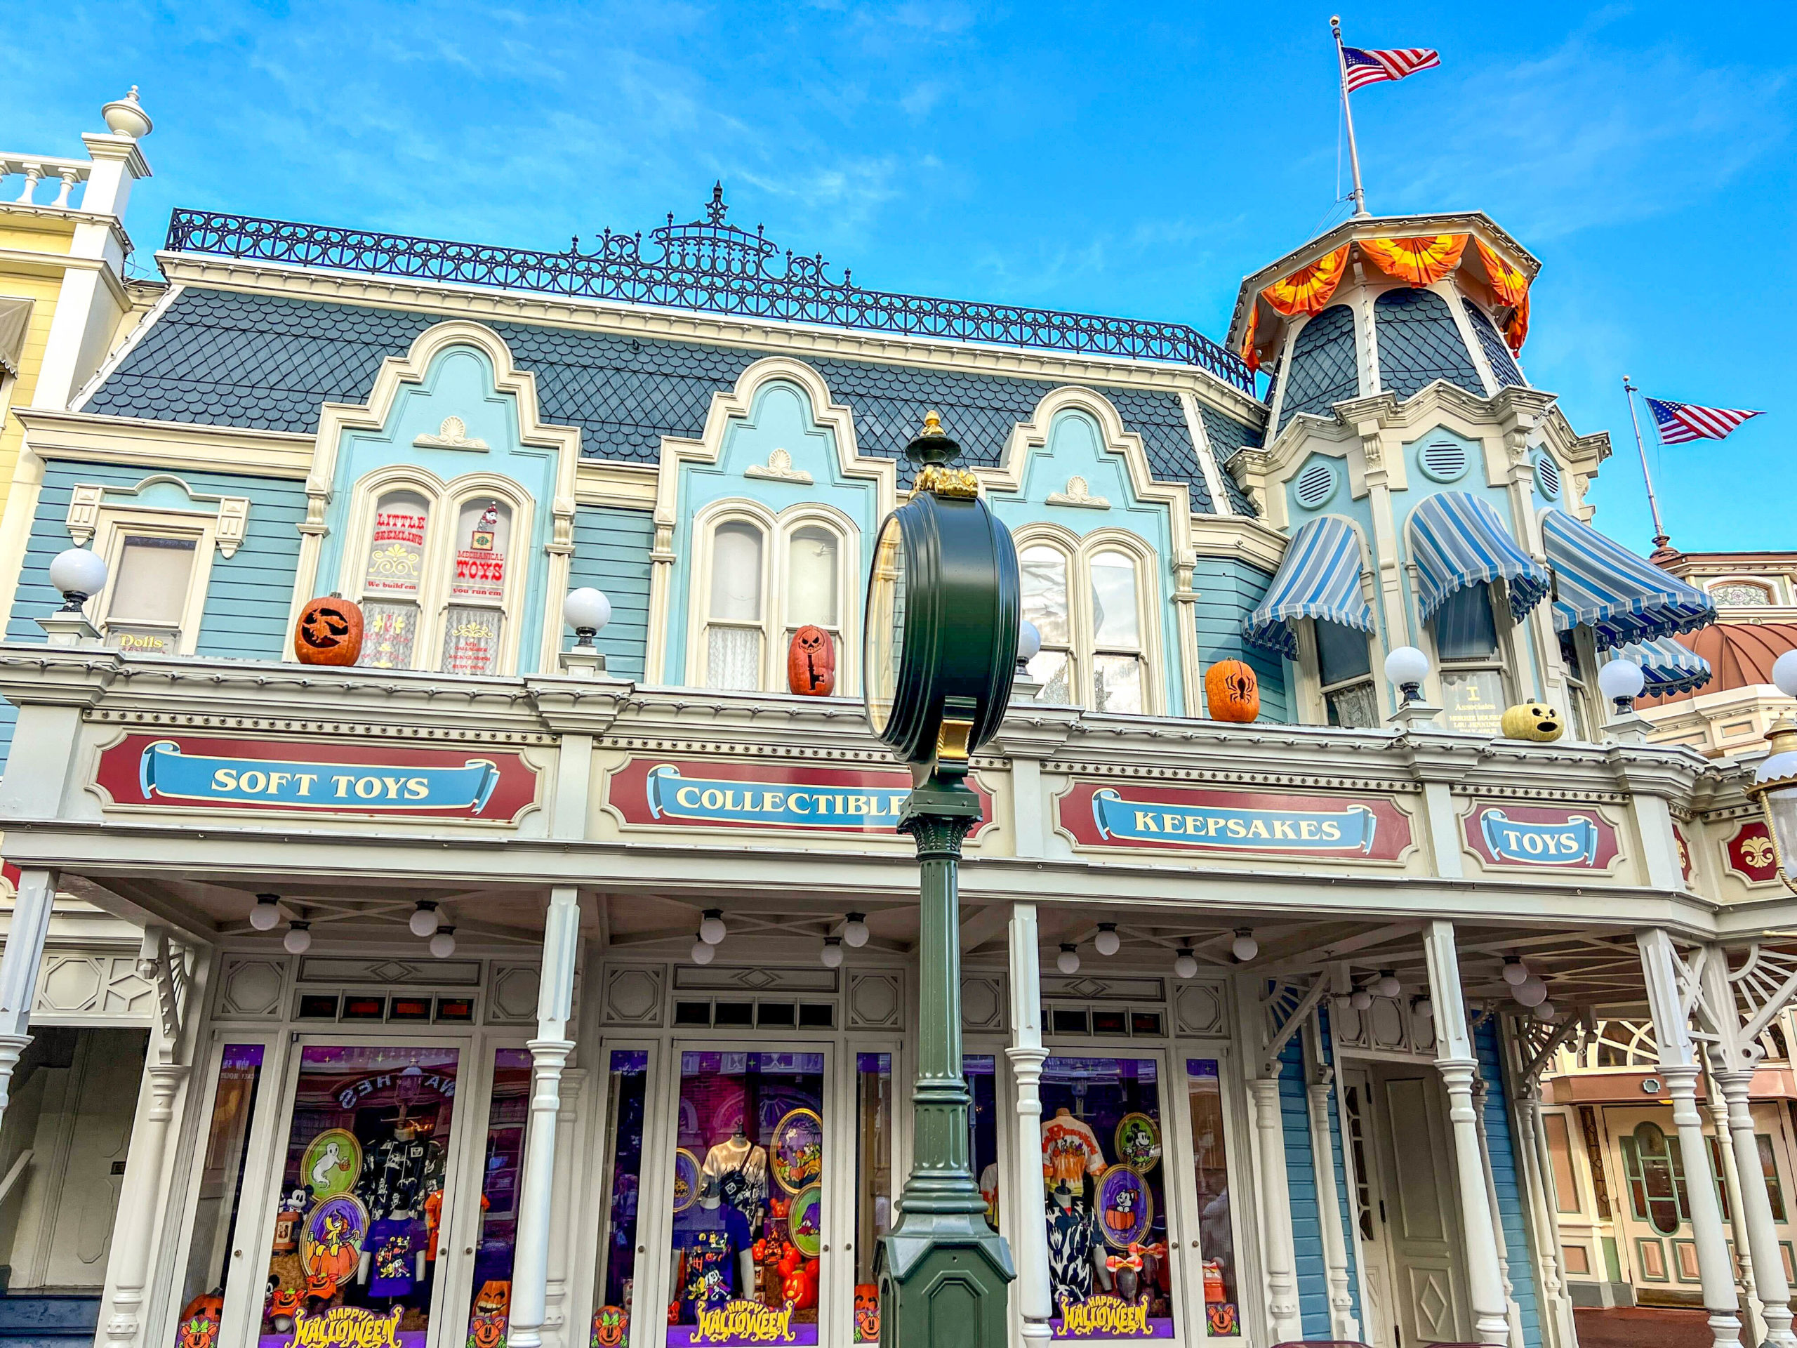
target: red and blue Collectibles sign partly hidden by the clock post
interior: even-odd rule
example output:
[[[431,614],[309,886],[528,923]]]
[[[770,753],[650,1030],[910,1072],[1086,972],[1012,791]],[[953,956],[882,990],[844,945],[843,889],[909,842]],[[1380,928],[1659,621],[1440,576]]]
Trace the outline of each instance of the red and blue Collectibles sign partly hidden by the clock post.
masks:
[[[974,791],[990,820],[992,798]],[[606,803],[629,825],[890,834],[909,794],[906,769],[631,758]]]

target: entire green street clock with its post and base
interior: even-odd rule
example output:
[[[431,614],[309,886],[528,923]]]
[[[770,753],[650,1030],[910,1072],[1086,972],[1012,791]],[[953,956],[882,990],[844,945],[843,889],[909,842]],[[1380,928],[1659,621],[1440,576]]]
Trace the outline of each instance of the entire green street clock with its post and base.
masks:
[[[1017,550],[956,453],[931,412],[906,449],[916,489],[873,546],[863,625],[868,721],[911,764],[898,830],[920,870],[911,1174],[875,1264],[884,1348],[999,1348],[1017,1276],[969,1157],[958,881],[979,823],[969,758],[1005,719],[1017,661]]]

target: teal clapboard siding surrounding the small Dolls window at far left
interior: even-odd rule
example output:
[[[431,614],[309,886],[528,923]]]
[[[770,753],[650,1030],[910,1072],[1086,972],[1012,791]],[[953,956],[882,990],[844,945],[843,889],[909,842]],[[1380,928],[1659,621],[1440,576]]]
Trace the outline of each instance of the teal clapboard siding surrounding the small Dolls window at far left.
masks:
[[[194,654],[205,658],[280,660],[288,647],[288,609],[293,602],[293,575],[300,559],[298,523],[305,518],[305,487],[300,482],[279,478],[252,478],[235,473],[151,473],[124,464],[68,464],[43,466],[43,485],[38,489],[38,509],[31,521],[31,539],[25,545],[25,563],[20,568],[18,591],[5,636],[9,642],[41,642],[38,618],[61,606],[61,595],[50,588],[50,559],[70,546],[68,501],[77,483],[93,482],[110,492],[131,492],[151,476],[176,476],[199,496],[246,496],[250,518],[243,546],[235,555],[212,554],[212,573],[207,581],[205,611]],[[129,505],[129,494],[108,494],[108,505]],[[147,489],[146,507],[176,507],[207,510],[210,501],[189,501],[173,483]],[[18,715],[11,703],[0,705],[0,758],[13,744],[13,723]]]

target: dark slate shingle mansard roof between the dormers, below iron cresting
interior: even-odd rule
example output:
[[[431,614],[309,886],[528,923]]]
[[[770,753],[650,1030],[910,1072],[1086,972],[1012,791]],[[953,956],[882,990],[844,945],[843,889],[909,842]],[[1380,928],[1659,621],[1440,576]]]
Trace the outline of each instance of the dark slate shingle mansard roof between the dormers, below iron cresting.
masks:
[[[386,356],[403,354],[437,315],[280,295],[185,289],[88,397],[84,412],[313,433],[322,403],[365,403]],[[580,453],[656,462],[663,435],[697,437],[712,394],[735,386],[766,352],[613,336],[536,324],[489,324],[536,374],[544,421],[580,428]],[[1015,422],[1055,385],[873,361],[812,358],[830,395],[854,410],[864,453],[897,458],[924,412],[938,408],[963,462],[994,464]],[[1191,509],[1215,510],[1179,397],[1094,385],[1141,435],[1161,482],[1184,482]],[[1220,455],[1258,431],[1209,408]],[[904,466],[907,467],[907,466]],[[907,473],[902,467],[902,476]],[[1224,474],[1227,478],[1227,474]],[[1236,510],[1253,514],[1226,483]]]

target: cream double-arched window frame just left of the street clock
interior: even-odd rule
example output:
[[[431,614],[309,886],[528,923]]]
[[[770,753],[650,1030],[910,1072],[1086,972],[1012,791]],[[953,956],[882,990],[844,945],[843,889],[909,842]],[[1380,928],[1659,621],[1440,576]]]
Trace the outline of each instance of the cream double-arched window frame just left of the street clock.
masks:
[[[785,692],[785,658],[791,638],[787,620],[787,579],[792,536],[819,528],[836,539],[836,694],[861,696],[861,536],[855,521],[841,510],[807,501],[771,510],[760,501],[713,501],[692,521],[692,564],[688,568],[686,609],[686,683],[710,687],[712,561],[717,530],[730,523],[748,523],[762,530],[760,575],[760,690]]]

